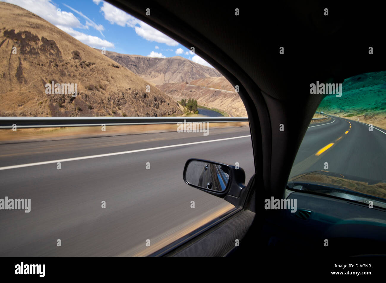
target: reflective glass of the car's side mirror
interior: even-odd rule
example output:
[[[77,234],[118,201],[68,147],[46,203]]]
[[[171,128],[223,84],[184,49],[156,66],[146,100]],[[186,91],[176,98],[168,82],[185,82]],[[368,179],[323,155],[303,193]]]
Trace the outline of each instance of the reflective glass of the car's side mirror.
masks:
[[[229,174],[228,166],[209,161],[192,160],[186,167],[185,180],[203,189],[222,192],[227,188]]]

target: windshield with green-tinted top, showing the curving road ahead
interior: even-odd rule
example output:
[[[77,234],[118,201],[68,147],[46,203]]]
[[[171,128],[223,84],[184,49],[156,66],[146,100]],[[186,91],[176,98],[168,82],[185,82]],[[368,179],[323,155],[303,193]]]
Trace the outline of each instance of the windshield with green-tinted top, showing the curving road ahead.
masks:
[[[355,75],[342,84],[314,82],[310,95],[324,98],[300,145],[288,188],[386,200],[386,72]]]

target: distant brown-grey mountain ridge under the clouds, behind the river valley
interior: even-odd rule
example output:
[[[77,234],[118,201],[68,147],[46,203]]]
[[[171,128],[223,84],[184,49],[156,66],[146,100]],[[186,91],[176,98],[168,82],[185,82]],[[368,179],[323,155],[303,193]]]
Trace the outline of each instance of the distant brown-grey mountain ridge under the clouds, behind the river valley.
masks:
[[[167,82],[190,82],[205,77],[222,77],[216,69],[180,56],[153,58],[106,51],[106,56],[154,85]]]

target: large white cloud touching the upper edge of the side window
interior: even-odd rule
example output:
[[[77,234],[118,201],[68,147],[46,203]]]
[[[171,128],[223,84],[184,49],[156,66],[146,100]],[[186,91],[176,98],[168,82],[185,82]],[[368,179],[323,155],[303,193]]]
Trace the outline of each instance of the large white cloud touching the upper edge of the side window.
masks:
[[[125,26],[132,27],[134,28],[137,35],[139,35],[140,37],[150,42],[155,41],[159,43],[164,43],[169,46],[178,45],[178,42],[171,39],[167,35],[164,35],[162,32],[156,30],[155,28],[151,27],[147,23],[144,23],[141,20],[134,18],[128,13],[114,7],[113,5],[107,2],[103,2],[103,5],[100,8],[100,10],[102,11],[105,19],[108,20],[111,24],[116,23],[121,27],[125,27]]]

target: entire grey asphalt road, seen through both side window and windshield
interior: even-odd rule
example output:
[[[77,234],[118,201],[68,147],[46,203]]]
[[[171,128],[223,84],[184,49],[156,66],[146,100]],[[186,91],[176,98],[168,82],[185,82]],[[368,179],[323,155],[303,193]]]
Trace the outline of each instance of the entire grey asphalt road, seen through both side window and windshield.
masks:
[[[386,131],[332,120],[310,125],[290,176],[324,170],[328,162],[331,172],[385,180]],[[149,254],[232,208],[185,184],[183,167],[191,157],[239,162],[247,183],[254,173],[249,134],[247,127],[229,127],[208,136],[163,132],[0,144],[0,198],[31,199],[30,213],[0,210],[0,255]],[[69,160],[58,170],[63,159]]]

